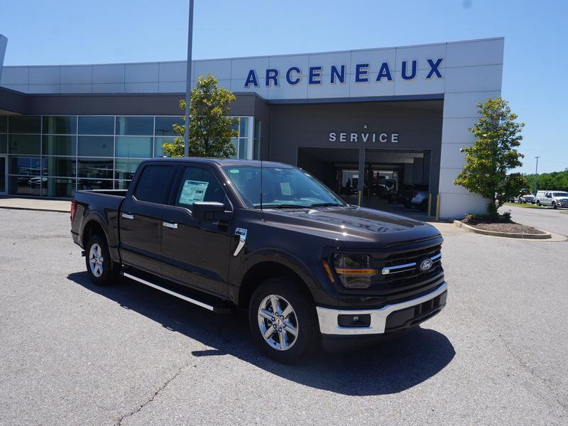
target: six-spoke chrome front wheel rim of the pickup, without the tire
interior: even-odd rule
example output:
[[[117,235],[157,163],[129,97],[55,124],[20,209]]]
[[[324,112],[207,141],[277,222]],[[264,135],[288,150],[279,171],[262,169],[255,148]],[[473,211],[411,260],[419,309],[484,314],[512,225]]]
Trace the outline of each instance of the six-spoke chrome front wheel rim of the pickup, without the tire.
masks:
[[[288,300],[266,296],[258,307],[258,328],[266,343],[278,351],[290,349],[297,340],[297,317]]]

